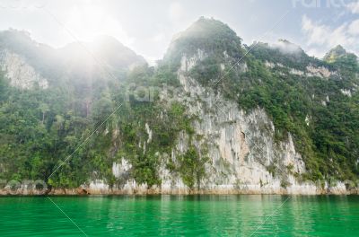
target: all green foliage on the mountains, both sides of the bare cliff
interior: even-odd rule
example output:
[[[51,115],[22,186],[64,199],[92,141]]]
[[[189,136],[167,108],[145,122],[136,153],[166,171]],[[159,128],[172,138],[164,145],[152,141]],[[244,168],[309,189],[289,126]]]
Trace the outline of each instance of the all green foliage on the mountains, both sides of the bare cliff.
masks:
[[[16,48],[6,43],[9,38],[1,39],[0,47]],[[29,56],[38,58],[39,52],[29,49],[31,41],[25,41]],[[227,25],[201,18],[172,41],[157,67],[116,68],[111,71],[115,78],[83,69],[61,73],[64,67],[51,63],[56,59],[48,50],[44,58],[51,59],[50,66],[44,58],[32,65],[52,79],[48,89],[17,89],[0,74],[0,180],[39,179],[75,188],[89,180],[105,179],[113,186],[133,178],[152,186],[162,182],[158,172],[165,162],[196,188],[206,176],[208,158],[192,144],[193,118],[180,101],[160,100],[162,89],[152,89],[180,85],[183,56],[202,58],[188,76],[244,110],[264,108],[276,127],[276,141],[293,135],[308,170],[302,178],[358,178],[359,69],[355,55],[342,48],[325,60],[308,57],[300,48],[284,52],[259,43],[250,50]],[[238,61],[246,69],[235,65]],[[281,66],[267,68],[266,61]],[[328,78],[290,73],[307,66],[335,73]],[[171,152],[180,133],[189,137],[188,150],[174,162]],[[122,158],[131,169],[115,178],[112,164]]]

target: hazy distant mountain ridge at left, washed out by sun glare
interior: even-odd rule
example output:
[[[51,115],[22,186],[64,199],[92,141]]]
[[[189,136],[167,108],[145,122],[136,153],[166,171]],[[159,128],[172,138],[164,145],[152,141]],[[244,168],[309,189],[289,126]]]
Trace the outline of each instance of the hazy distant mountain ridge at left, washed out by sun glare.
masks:
[[[1,31],[0,51],[19,56],[19,60],[50,81],[57,81],[63,74],[92,75],[103,70],[123,74],[131,67],[146,64],[144,57],[108,36],[92,43],[74,42],[64,48],[50,48],[32,40],[26,31]]]

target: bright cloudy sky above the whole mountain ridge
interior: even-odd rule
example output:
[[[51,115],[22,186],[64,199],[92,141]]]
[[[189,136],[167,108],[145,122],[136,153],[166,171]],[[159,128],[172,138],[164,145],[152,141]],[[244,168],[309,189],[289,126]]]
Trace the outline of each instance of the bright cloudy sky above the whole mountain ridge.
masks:
[[[150,63],[200,16],[227,23],[248,45],[285,39],[323,57],[341,44],[359,55],[359,0],[0,0],[0,31],[29,31],[55,48],[110,35]]]

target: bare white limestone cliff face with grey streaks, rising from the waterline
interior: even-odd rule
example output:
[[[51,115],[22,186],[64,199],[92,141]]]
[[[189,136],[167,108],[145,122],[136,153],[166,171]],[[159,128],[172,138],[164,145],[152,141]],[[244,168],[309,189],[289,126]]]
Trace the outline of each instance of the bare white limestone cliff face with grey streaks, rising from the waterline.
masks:
[[[161,186],[148,187],[137,184],[135,180],[125,180],[121,187],[109,189],[103,180],[94,180],[89,186],[83,186],[93,193],[261,193],[261,194],[321,194],[346,193],[343,183],[334,187],[320,186],[299,177],[306,171],[301,154],[295,151],[293,138],[276,142],[274,133],[276,127],[268,118],[265,110],[257,108],[250,112],[241,110],[233,101],[223,99],[221,93],[205,88],[191,77],[186,76],[197,61],[205,58],[205,53],[198,49],[194,57],[183,56],[181,59],[178,79],[182,93],[177,100],[186,104],[189,114],[195,116],[194,128],[197,139],[190,141],[188,134],[182,132],[169,156],[162,157],[159,169]],[[245,68],[245,66],[240,66]],[[241,69],[243,71],[243,69]],[[145,125],[147,133],[152,131]],[[151,137],[151,136],[149,136]],[[166,159],[177,162],[180,154],[184,154],[189,143],[198,150],[205,147],[201,154],[210,159],[206,162],[206,175],[196,185],[189,189],[178,173],[169,171]],[[151,143],[149,138],[145,143]],[[145,147],[145,145],[144,145]],[[127,172],[131,165],[123,157],[120,163],[114,163],[112,171],[116,177]]]

